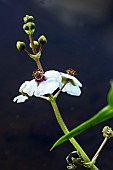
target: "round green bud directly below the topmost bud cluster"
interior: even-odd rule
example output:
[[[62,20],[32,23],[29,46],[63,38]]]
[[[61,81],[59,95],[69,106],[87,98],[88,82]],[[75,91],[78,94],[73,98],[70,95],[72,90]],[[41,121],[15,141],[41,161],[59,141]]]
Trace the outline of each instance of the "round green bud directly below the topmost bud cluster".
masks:
[[[31,35],[35,31],[35,24],[33,22],[28,22],[23,25],[23,29],[26,32],[26,34]]]

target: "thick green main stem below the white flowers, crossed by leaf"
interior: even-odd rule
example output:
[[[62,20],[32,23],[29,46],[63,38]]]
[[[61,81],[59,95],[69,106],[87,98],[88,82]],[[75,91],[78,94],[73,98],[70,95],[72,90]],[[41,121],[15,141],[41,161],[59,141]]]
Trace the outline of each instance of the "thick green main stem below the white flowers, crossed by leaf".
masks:
[[[50,103],[52,105],[52,108],[54,110],[56,119],[57,119],[62,131],[64,132],[64,134],[69,133],[69,130],[67,129],[67,127],[66,127],[66,125],[65,125],[65,123],[64,123],[64,121],[63,121],[63,119],[61,117],[61,114],[59,112],[59,109],[58,109],[58,106],[57,106],[57,103],[56,103],[54,97],[52,99],[50,99]],[[86,153],[83,151],[81,146],[77,143],[77,141],[74,138],[69,139],[69,141],[72,143],[74,148],[80,153],[80,155],[82,156],[84,162],[90,162],[89,157],[86,155]],[[99,170],[95,165],[90,167],[90,169],[91,170]]]

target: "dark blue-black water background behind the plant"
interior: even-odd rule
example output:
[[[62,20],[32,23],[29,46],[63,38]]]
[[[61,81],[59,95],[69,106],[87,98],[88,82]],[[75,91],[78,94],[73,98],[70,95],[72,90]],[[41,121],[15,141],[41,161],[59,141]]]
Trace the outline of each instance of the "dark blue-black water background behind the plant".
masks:
[[[62,94],[58,105],[70,129],[107,104],[113,79],[112,0],[0,0],[0,170],[64,170],[65,157],[73,151],[69,142],[49,151],[63,134],[50,104],[31,98],[15,104],[22,82],[31,79],[35,63],[15,48],[17,40],[28,44],[23,17],[33,15],[34,39],[46,35],[41,62],[45,70],[75,69],[83,83],[81,97]],[[102,123],[76,137],[92,157],[103,140]],[[112,170],[113,140],[97,161],[100,170]],[[84,169],[84,168],[78,168]]]

